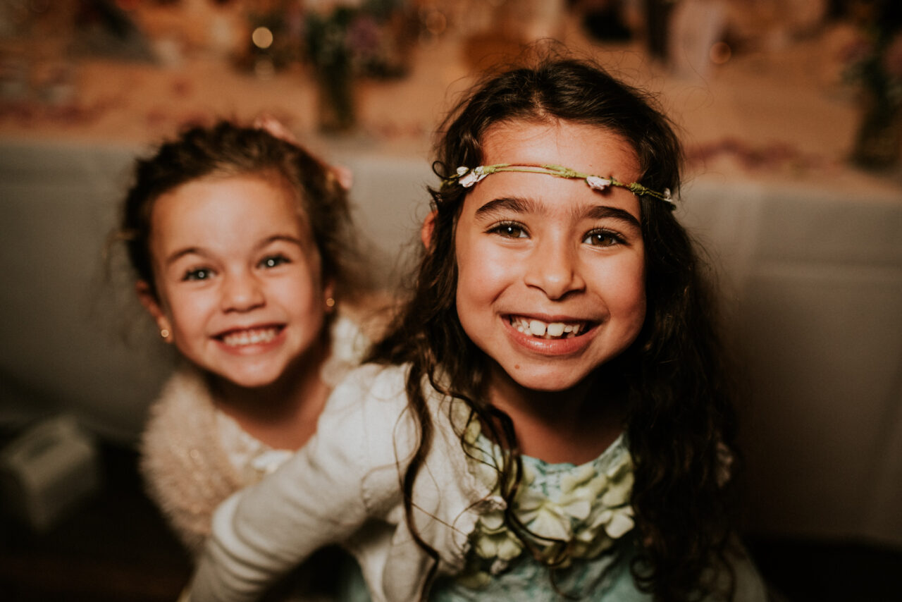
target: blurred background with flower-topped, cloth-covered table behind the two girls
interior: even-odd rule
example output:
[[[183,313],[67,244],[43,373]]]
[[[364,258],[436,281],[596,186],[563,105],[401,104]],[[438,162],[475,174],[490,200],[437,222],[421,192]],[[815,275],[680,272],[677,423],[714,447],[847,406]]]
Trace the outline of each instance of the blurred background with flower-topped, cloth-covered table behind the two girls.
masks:
[[[173,358],[107,246],[133,158],[184,125],[277,117],[354,172],[391,289],[441,118],[545,41],[680,129],[678,211],[741,366],[742,521],[765,577],[781,599],[897,599],[899,5],[0,0],[0,598],[174,599],[189,575],[134,471]]]

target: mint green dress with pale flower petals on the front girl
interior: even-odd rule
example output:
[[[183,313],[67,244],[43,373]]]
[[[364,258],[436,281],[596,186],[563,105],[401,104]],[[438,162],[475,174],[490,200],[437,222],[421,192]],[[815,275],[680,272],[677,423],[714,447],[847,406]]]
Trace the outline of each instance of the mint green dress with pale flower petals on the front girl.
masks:
[[[483,462],[492,462],[497,447],[480,434],[473,438]],[[504,526],[500,511],[483,515],[470,535],[465,571],[437,580],[430,602],[510,600],[565,602],[611,600],[651,602],[630,574],[638,546],[629,505],[632,461],[622,436],[601,456],[582,465],[548,464],[523,457],[524,478],[515,512],[530,531],[571,542],[571,560],[551,572]],[[494,472],[474,461],[477,477]],[[491,482],[491,481],[490,481]],[[544,555],[560,550],[549,543]],[[764,602],[765,589],[749,560],[736,563],[737,596],[743,602]]]

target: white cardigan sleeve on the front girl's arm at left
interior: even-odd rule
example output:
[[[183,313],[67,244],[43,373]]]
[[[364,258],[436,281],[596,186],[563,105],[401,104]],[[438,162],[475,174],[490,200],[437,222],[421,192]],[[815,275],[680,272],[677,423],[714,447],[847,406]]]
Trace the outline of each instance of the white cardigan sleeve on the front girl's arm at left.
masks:
[[[258,599],[313,551],[357,532],[373,508],[398,493],[392,438],[404,403],[374,393],[374,370],[364,366],[336,388],[307,446],[219,506],[190,586],[192,602]]]

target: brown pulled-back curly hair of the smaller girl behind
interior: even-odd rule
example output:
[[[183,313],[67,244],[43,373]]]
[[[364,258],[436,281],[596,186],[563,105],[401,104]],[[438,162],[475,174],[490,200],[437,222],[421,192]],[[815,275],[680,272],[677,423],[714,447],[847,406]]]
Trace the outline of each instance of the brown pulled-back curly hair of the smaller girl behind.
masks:
[[[154,201],[190,181],[247,174],[284,183],[313,233],[323,277],[335,282],[337,295],[356,290],[362,279],[355,267],[359,254],[349,234],[347,191],[334,171],[299,144],[265,129],[219,121],[208,127],[191,126],[135,162],[115,238],[124,241],[137,277],[147,282],[152,294],[156,288],[149,241]]]

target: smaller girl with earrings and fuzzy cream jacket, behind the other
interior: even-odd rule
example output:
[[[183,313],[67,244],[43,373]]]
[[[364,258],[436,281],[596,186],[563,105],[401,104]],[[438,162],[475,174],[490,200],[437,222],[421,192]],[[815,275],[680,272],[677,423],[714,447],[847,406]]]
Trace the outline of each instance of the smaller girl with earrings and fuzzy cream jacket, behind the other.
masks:
[[[184,360],[152,404],[141,470],[192,555],[216,505],[303,446],[363,356],[348,183],[268,117],[193,127],[135,164],[118,237]],[[291,588],[318,589],[308,572]]]

